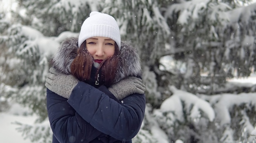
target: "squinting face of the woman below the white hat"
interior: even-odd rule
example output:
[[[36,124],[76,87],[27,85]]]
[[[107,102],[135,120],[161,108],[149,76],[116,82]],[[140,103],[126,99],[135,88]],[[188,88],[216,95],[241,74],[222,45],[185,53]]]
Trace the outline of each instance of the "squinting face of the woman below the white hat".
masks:
[[[94,61],[101,63],[115,53],[115,41],[108,37],[90,37],[86,39],[86,48]]]

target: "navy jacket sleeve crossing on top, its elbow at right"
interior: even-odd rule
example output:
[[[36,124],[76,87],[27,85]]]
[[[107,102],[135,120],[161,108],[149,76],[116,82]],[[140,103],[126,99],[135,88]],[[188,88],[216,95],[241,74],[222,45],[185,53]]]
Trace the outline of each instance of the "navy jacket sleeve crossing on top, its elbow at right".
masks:
[[[102,91],[79,82],[67,102],[94,128],[121,141],[135,137],[145,112],[145,95],[132,94],[118,103]]]

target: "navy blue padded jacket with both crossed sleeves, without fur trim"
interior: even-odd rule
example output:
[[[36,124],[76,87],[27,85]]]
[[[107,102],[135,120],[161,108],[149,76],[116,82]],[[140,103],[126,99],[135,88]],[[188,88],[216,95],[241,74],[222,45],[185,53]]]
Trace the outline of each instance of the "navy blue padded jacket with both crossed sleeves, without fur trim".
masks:
[[[118,101],[105,86],[79,82],[70,98],[47,89],[53,143],[131,143],[145,112],[145,95]]]

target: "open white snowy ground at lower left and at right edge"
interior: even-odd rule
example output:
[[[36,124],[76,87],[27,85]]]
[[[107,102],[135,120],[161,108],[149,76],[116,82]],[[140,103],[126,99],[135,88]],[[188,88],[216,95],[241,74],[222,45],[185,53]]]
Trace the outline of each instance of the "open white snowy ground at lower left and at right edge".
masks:
[[[232,79],[229,81],[253,85],[256,84],[256,76],[254,75],[249,78]],[[0,113],[0,143],[31,143],[30,140],[24,140],[22,138],[22,133],[16,130],[18,125],[13,124],[15,121],[19,121],[24,124],[33,124],[36,117],[24,117],[19,115],[25,110],[26,109],[14,104],[8,112]]]

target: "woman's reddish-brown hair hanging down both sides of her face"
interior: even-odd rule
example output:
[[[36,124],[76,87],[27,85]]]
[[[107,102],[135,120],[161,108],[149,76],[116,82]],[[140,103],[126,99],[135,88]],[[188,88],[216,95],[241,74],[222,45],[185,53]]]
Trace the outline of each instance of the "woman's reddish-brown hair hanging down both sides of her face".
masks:
[[[77,56],[71,63],[70,69],[71,74],[73,74],[78,80],[86,82],[90,80],[92,65],[94,59],[92,55],[86,49],[86,41],[82,43],[80,48],[78,48]],[[119,61],[119,48],[115,42],[115,52],[114,55],[106,60],[103,60],[98,67],[96,75],[100,72],[99,80],[103,82],[106,87],[113,84],[115,80],[115,74],[117,73],[117,64]]]

